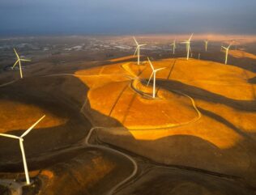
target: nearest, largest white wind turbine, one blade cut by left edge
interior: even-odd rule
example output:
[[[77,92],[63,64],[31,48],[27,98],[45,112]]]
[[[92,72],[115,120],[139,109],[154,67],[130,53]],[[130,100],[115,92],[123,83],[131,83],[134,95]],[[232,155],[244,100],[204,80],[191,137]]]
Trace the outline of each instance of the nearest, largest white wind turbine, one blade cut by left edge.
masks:
[[[26,155],[25,155],[24,146],[23,146],[23,137],[25,137],[41,120],[43,120],[44,117],[45,117],[45,115],[43,117],[41,117],[41,119],[36,121],[36,123],[34,123],[34,125],[29,127],[20,137],[11,135],[11,134],[0,134],[0,136],[3,136],[3,137],[19,139],[19,146],[20,146],[20,150],[21,150],[21,154],[22,154],[22,158],[23,158],[23,167],[24,167],[27,184],[30,184],[30,180],[29,180],[29,175],[28,175],[28,165],[27,165],[27,161],[26,161]]]

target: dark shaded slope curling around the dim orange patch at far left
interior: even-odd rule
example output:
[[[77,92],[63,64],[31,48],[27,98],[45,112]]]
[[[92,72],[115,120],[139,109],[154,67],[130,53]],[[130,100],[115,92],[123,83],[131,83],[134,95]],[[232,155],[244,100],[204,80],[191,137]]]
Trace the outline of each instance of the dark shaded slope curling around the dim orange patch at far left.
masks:
[[[68,92],[70,90],[70,92]],[[29,159],[40,156],[41,154],[67,148],[81,141],[92,128],[89,121],[80,112],[82,103],[87,99],[88,87],[82,83],[79,78],[70,76],[45,77],[45,78],[23,78],[18,83],[10,86],[0,87],[0,101],[8,100],[14,103],[27,104],[31,108],[39,107],[50,115],[65,118],[66,123],[52,126],[49,128],[33,129],[24,138],[24,147]],[[73,96],[75,94],[75,96]],[[19,120],[19,113],[10,118],[10,122]],[[87,110],[91,110],[90,104],[87,104]],[[2,115],[9,110],[1,110]],[[33,115],[33,112],[31,113]],[[47,120],[47,115],[45,121]],[[111,125],[121,126],[121,124],[111,117],[107,117],[97,112],[97,117],[102,121],[107,121]],[[2,117],[4,120],[4,117]],[[37,118],[35,118],[35,121]],[[44,120],[41,124],[44,124]],[[28,124],[29,127],[32,124]],[[10,129],[6,134],[20,136],[26,129]],[[0,171],[15,172],[23,169],[21,154],[19,149],[19,140],[0,137]],[[65,158],[56,159],[57,161]],[[39,168],[52,162],[47,159],[43,162],[30,164],[30,168]],[[53,163],[53,162],[52,162]],[[56,163],[54,161],[54,163]]]

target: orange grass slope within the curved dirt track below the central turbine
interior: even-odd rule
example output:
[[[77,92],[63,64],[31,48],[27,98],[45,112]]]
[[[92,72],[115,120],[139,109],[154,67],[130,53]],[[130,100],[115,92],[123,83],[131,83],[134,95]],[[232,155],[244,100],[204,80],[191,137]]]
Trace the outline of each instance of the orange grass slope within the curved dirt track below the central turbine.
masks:
[[[127,67],[121,66],[122,64],[104,66],[104,70],[100,67],[100,72],[104,74],[95,75],[90,79],[81,78],[90,86],[87,97],[92,109],[113,117],[128,129],[161,128],[191,121],[197,117],[190,100],[182,95],[165,93],[167,95],[164,96],[160,91],[161,99],[147,100],[136,94],[130,88],[130,80],[120,75],[130,73],[125,70]],[[109,77],[106,77],[106,74],[109,74]],[[147,92],[151,93],[151,87],[147,88]],[[177,114],[170,114],[173,112]]]

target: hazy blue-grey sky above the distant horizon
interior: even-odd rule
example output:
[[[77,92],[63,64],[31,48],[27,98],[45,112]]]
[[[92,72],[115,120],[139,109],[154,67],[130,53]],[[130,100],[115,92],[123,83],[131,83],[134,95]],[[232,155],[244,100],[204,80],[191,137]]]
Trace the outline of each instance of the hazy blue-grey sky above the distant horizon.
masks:
[[[256,34],[256,0],[0,0],[0,36]]]

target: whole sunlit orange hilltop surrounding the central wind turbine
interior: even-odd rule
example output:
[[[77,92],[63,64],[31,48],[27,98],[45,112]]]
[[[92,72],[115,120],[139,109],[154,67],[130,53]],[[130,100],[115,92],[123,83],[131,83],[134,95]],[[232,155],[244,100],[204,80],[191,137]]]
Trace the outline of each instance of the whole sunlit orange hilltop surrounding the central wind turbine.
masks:
[[[181,58],[153,61],[153,64],[156,68],[166,67],[165,70],[157,73],[158,79],[169,78],[198,87],[213,95],[213,99],[215,99],[214,95],[217,95],[217,99],[220,97],[230,101],[254,100],[255,88],[254,85],[247,83],[247,79],[254,77],[255,74],[248,70],[242,70],[236,66],[224,66],[224,64],[213,61],[194,59],[186,61]],[[94,69],[95,72],[96,69]],[[244,132],[255,132],[256,115],[254,112],[241,111],[232,105],[218,103],[219,100],[213,103],[211,98],[209,100],[194,99],[198,107],[214,113],[217,119],[203,114],[198,121],[193,121],[197,114],[190,100],[184,95],[175,95],[172,91],[160,88],[159,99],[143,98],[130,88],[129,78],[124,78],[124,80],[122,78],[125,74],[134,77],[139,73],[140,78],[149,78],[151,68],[146,62],[143,66],[128,63],[125,64],[125,68],[117,64],[105,66],[104,70],[101,67],[98,69],[101,75],[111,74],[111,76],[98,74],[93,79],[91,77],[80,78],[92,87],[88,92],[91,107],[106,116],[117,119],[127,129],[130,129],[130,134],[136,139],[156,140],[171,135],[193,135],[220,148],[232,147],[243,138],[232,126],[219,121],[220,117]],[[83,74],[85,72],[83,70]],[[151,95],[151,86],[146,88],[141,83],[137,83],[136,87]],[[186,121],[188,124],[182,125]]]

